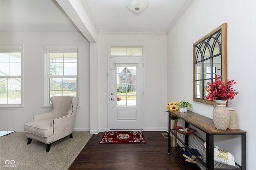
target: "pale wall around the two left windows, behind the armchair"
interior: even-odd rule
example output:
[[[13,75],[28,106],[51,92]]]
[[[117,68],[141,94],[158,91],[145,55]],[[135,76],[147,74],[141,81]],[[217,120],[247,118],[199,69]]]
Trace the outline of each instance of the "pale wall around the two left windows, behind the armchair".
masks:
[[[1,109],[1,131],[24,131],[24,123],[32,116],[49,112],[42,109],[42,44],[79,45],[80,108],[74,131],[90,130],[90,44],[78,32],[1,32],[1,45],[23,44],[23,109]]]

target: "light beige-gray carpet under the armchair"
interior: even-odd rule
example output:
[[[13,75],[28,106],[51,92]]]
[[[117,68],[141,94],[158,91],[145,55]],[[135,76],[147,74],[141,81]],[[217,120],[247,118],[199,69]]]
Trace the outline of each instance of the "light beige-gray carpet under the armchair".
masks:
[[[66,170],[89,141],[89,132],[73,132],[52,143],[46,152],[46,144],[32,140],[27,144],[25,132],[14,132],[0,138],[1,170]]]

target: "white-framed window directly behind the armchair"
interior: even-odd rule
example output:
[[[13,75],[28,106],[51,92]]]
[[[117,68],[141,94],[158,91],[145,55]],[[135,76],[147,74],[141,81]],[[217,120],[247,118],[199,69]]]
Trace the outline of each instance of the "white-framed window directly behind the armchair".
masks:
[[[78,47],[44,46],[44,106],[52,96],[77,96]]]

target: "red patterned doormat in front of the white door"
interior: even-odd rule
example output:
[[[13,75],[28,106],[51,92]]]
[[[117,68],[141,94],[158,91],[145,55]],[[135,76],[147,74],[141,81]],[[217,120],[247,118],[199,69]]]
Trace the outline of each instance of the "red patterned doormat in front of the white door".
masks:
[[[100,143],[146,143],[142,131],[105,131]]]

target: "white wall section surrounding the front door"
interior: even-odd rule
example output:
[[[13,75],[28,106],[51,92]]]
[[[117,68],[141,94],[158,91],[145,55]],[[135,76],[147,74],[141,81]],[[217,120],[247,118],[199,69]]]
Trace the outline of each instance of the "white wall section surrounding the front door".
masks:
[[[144,45],[144,130],[166,130],[166,34],[100,34],[98,37],[99,131],[108,128],[108,45]],[[101,84],[106,88],[101,88]]]

